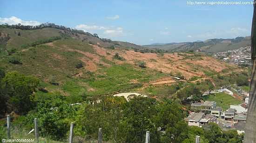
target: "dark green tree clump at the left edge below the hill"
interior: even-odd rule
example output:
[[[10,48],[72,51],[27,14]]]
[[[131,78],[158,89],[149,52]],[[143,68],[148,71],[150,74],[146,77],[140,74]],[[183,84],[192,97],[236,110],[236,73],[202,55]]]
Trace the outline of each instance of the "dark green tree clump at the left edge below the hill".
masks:
[[[14,111],[17,114],[26,114],[34,107],[32,93],[39,84],[39,80],[19,74],[9,72],[0,82],[1,113]]]

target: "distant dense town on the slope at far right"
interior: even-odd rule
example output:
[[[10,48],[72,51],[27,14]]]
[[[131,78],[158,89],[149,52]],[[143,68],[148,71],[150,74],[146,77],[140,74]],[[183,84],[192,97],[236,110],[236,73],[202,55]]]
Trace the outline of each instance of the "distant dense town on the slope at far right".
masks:
[[[239,66],[249,67],[251,65],[251,47],[241,47],[236,50],[217,52],[213,56],[225,62],[234,63]]]

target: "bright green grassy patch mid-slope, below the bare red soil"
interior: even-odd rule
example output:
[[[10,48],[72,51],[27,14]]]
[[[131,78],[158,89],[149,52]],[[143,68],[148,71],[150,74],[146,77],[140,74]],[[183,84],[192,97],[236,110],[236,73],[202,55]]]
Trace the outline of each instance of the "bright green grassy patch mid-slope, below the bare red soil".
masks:
[[[141,87],[141,83],[160,78],[164,75],[156,71],[136,69],[129,64],[114,65],[101,69],[99,72],[102,74],[95,75],[93,80],[87,79],[89,86],[95,89],[95,91],[88,94],[124,92]],[[136,80],[138,83],[134,83],[132,80]]]

